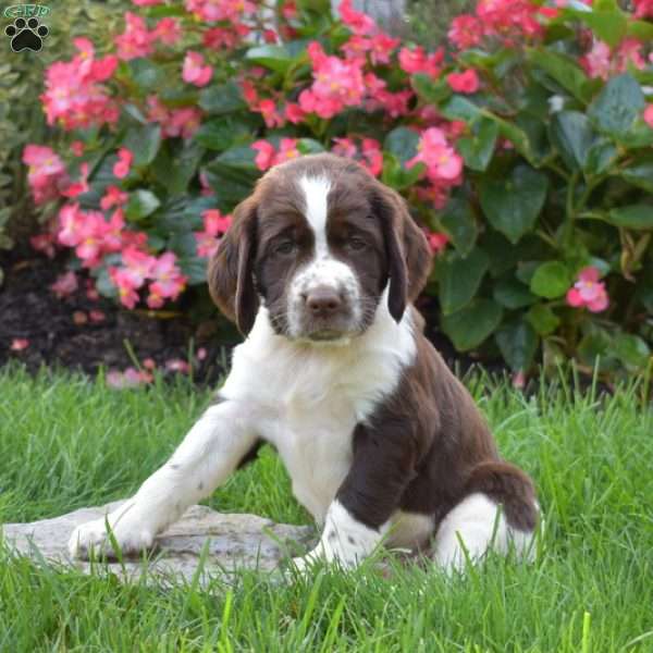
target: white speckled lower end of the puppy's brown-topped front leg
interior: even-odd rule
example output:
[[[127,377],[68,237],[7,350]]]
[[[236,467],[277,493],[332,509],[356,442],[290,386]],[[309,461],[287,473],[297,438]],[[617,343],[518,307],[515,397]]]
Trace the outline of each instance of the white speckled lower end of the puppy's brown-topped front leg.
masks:
[[[304,557],[293,558],[293,563],[300,570],[320,558],[328,563],[337,562],[343,567],[355,567],[374,551],[386,531],[387,525],[379,530],[365,526],[335,500],[329,506],[318,545]]]

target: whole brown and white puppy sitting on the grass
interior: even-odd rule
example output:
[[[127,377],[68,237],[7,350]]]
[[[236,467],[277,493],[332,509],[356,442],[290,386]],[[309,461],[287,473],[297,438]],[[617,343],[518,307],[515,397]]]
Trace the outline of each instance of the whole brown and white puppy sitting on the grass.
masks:
[[[268,442],[323,525],[299,566],[355,565],[382,541],[433,544],[447,568],[490,546],[526,552],[532,483],[500,458],[412,307],[430,266],[403,199],[358,164],[317,155],[268,172],[209,268],[246,340],[215,403],[108,516],[122,550],[150,546]],[[77,528],[70,549],[85,556],[107,540],[102,519]]]

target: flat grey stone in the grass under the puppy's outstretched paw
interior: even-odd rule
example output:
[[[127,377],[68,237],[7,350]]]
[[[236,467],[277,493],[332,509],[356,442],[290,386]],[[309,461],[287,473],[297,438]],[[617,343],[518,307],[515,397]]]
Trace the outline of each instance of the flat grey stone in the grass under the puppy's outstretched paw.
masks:
[[[20,554],[38,562],[45,558],[89,572],[91,564],[71,558],[67,542],[79,523],[98,519],[123,502],[106,506],[81,508],[53,519],[30,523],[5,523],[4,541]],[[309,526],[275,523],[257,515],[222,514],[207,506],[193,506],[182,518],[162,532],[155,549],[144,556],[94,563],[94,572],[112,572],[123,580],[138,580],[147,570],[148,577],[190,581],[198,567],[204,584],[212,577],[229,577],[242,569],[270,571],[282,558],[301,555],[315,541]]]

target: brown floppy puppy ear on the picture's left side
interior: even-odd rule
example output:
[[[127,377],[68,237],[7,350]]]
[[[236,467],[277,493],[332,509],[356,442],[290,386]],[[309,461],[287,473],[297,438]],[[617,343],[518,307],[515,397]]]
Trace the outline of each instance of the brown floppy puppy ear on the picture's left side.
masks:
[[[248,197],[234,210],[229,231],[209,262],[209,292],[218,308],[247,335],[259,307],[254,284],[257,201]]]

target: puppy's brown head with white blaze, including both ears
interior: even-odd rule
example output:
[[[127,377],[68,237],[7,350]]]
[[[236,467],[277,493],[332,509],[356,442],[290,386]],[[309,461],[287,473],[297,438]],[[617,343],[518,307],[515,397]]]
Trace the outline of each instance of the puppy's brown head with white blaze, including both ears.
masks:
[[[211,296],[246,335],[259,305],[276,333],[340,341],[372,323],[386,286],[398,322],[431,255],[402,197],[332,155],[288,161],[259,180],[209,264]]]

